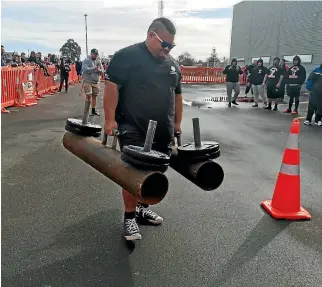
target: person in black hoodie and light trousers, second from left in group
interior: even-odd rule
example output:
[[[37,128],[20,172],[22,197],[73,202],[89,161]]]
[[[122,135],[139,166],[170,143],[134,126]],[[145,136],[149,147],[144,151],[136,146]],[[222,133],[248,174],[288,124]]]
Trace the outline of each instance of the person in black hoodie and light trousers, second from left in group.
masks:
[[[259,96],[261,97],[262,101],[263,101],[263,108],[266,108],[267,106],[267,100],[266,100],[266,96],[265,96],[265,91],[264,91],[264,87],[265,87],[265,76],[268,73],[268,69],[266,67],[264,67],[264,62],[262,59],[259,59],[257,61],[257,65],[254,69],[252,69],[252,72],[249,76],[249,83],[252,85],[253,89],[254,89],[254,99],[255,99],[255,103],[253,105],[253,108],[257,108],[258,107],[258,100],[259,100]]]

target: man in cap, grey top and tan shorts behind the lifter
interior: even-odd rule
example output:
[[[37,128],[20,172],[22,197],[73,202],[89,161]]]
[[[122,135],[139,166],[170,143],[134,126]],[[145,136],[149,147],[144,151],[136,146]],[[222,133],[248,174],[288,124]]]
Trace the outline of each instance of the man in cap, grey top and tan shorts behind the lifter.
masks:
[[[96,111],[97,96],[100,93],[100,75],[104,73],[102,63],[97,58],[98,50],[92,49],[91,54],[82,63],[82,78],[85,92],[85,101],[92,101],[92,115],[99,116]]]

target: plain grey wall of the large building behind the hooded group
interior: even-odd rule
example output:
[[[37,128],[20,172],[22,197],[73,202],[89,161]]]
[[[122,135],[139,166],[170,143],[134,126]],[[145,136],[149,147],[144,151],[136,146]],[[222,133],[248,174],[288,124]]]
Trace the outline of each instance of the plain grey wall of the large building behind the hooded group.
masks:
[[[299,55],[312,70],[322,63],[322,1],[242,1],[234,6],[230,58],[250,64]]]

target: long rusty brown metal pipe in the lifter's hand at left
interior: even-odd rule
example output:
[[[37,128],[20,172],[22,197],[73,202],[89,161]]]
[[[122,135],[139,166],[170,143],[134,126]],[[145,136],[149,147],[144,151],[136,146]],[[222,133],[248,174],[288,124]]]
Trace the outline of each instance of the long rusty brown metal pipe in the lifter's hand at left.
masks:
[[[63,145],[142,203],[159,203],[168,192],[169,182],[163,173],[135,169],[121,160],[120,151],[104,146],[95,138],[67,132],[63,138]]]

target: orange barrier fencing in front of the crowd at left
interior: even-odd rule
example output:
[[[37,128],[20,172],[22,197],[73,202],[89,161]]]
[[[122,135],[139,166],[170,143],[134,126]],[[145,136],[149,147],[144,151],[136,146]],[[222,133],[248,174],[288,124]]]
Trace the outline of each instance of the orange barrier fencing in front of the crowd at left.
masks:
[[[50,76],[36,66],[1,68],[1,112],[8,113],[7,107],[28,107],[37,105],[45,95],[57,93],[60,77],[56,66],[47,66]],[[71,65],[69,84],[77,82],[75,65]]]

